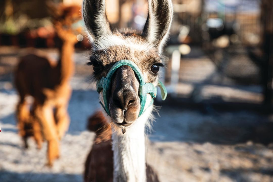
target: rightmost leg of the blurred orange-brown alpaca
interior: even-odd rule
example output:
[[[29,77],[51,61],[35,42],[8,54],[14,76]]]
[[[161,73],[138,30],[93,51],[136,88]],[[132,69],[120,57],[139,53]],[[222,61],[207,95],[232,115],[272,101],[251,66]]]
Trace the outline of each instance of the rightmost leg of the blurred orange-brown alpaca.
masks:
[[[66,105],[58,105],[56,106],[55,118],[57,121],[57,131],[59,138],[62,138],[65,132],[69,128],[70,118],[67,113]]]

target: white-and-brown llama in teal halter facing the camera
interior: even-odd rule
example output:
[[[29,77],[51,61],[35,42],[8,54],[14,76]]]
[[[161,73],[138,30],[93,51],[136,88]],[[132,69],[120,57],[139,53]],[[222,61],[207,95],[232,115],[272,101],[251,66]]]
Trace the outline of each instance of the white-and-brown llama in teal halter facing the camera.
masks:
[[[106,17],[105,0],[83,2],[85,26],[93,42],[88,64],[93,66],[99,100],[111,127],[113,158],[109,160],[113,159],[113,181],[148,180],[145,126],[150,125],[155,86],[159,84],[162,98],[166,97],[158,71],[164,66],[162,49],[171,25],[172,3],[171,0],[149,0],[148,3],[144,30],[138,32],[130,29],[112,31]],[[103,142],[99,144],[103,145]],[[93,147],[97,147],[96,144]],[[99,154],[103,155],[103,152],[104,149]],[[87,159],[91,166],[92,159],[99,158],[92,156],[95,153],[91,151]],[[85,174],[92,174],[92,171],[87,169]],[[96,174],[88,181],[104,181]]]

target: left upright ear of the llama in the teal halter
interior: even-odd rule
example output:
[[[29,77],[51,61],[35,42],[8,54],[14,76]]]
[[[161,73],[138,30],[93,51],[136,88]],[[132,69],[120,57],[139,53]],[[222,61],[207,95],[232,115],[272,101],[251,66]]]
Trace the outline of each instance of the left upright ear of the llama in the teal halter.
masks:
[[[106,17],[105,0],[84,0],[82,16],[91,41],[107,34],[112,34]]]

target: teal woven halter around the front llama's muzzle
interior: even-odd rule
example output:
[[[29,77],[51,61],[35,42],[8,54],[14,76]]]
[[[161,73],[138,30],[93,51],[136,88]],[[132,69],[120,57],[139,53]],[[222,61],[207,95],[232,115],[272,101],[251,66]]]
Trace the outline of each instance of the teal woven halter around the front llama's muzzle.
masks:
[[[138,79],[140,81],[140,86],[139,86],[139,97],[140,97],[140,112],[138,117],[140,117],[140,115],[143,113],[144,107],[145,107],[145,103],[146,103],[146,98],[147,98],[147,93],[149,93],[152,96],[152,101],[150,102],[149,106],[151,106],[153,104],[153,99],[156,97],[156,93],[157,93],[157,88],[155,86],[153,86],[152,83],[145,83],[144,81],[144,76],[140,71],[140,68],[133,62],[127,59],[122,59],[118,62],[116,62],[112,68],[109,70],[109,72],[107,73],[106,77],[102,77],[98,82],[97,82],[97,92],[100,93],[100,91],[103,90],[103,102],[105,104],[105,106],[102,104],[102,102],[100,102],[100,104],[102,105],[103,109],[105,110],[105,112],[111,116],[110,114],[110,110],[109,110],[109,99],[108,99],[108,91],[111,85],[111,79],[113,74],[115,73],[115,71],[117,70],[117,68],[126,65],[126,66],[130,66],[136,73],[136,75],[138,76]],[[161,99],[165,100],[167,97],[167,89],[166,87],[163,85],[163,83],[161,81],[158,81],[158,86],[161,90]],[[148,107],[149,107],[148,106]]]

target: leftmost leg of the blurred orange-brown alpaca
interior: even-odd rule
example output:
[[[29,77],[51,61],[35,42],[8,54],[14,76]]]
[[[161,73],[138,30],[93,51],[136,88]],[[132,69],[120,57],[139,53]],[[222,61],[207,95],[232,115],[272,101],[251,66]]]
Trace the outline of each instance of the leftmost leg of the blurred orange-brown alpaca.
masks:
[[[25,102],[25,99],[21,97],[20,102],[17,105],[17,127],[19,135],[22,136],[25,148],[28,148],[27,144],[27,136],[25,130],[25,124],[28,122],[29,119],[29,109],[28,105]]]

